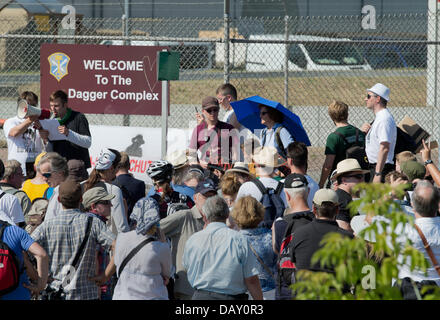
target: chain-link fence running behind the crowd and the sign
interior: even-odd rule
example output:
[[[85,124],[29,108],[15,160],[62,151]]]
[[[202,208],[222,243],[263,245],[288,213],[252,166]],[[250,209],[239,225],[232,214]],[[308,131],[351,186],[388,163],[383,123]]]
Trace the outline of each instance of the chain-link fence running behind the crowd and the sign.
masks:
[[[408,115],[438,140],[437,15],[382,15],[374,26],[365,26],[364,18],[133,18],[128,24],[79,18],[75,30],[64,30],[58,16],[1,18],[0,118],[15,115],[20,92],[39,94],[42,43],[148,41],[181,53],[180,80],[170,84],[170,128],[186,128],[194,121],[194,106],[227,81],[239,98],[258,94],[288,106],[300,116],[312,146],[323,148],[334,130],[327,115],[331,101],[347,103],[349,122],[360,126],[374,117],[364,107],[366,88],[381,82],[391,89],[396,122]],[[155,116],[87,118],[97,125],[161,126]],[[311,161],[316,177],[322,158]]]

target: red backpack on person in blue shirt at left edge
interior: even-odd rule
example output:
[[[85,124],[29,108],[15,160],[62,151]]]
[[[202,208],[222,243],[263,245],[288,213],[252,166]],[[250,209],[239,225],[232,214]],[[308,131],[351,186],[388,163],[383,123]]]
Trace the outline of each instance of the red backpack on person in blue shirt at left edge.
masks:
[[[0,221],[0,296],[14,291],[20,282],[19,261],[15,252],[4,242],[3,233],[10,226]]]

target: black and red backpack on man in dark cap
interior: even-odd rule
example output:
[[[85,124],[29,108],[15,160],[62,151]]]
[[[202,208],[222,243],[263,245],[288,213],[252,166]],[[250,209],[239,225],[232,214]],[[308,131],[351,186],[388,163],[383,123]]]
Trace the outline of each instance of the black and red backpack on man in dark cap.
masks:
[[[293,239],[293,231],[298,227],[305,225],[313,220],[313,214],[308,214],[307,212],[295,213],[288,215],[290,219],[283,218],[288,222],[286,231],[284,232],[283,241],[281,242],[280,252],[277,260],[277,277],[276,277],[276,287],[277,296],[280,298],[286,296],[286,298],[291,299],[291,291],[289,286],[295,283],[295,263],[291,260],[291,243]],[[303,223],[299,224],[298,219],[303,219]],[[288,221],[290,220],[290,221]],[[283,290],[284,289],[284,290]]]

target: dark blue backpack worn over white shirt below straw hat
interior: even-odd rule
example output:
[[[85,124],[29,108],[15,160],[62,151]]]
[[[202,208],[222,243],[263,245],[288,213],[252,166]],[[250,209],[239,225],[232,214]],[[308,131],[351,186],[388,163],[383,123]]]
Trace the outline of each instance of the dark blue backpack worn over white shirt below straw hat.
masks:
[[[261,203],[264,206],[265,212],[264,212],[264,219],[260,224],[259,227],[263,228],[272,228],[273,222],[277,219],[283,216],[284,210],[286,209],[286,206],[284,205],[283,199],[281,199],[281,190],[284,187],[284,184],[281,182],[278,182],[278,185],[276,189],[272,188],[266,188],[264,184],[258,180],[254,179],[251,180],[260,190],[260,192],[263,194],[263,198],[261,199]]]

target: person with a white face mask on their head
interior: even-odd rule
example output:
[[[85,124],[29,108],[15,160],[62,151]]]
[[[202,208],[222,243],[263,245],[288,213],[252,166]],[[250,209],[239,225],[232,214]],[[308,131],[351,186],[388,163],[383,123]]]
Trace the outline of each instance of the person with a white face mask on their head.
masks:
[[[114,234],[130,231],[127,218],[127,204],[122,190],[112,181],[116,178],[116,167],[121,160],[121,154],[114,149],[104,148],[101,150],[98,161],[90,172],[89,178],[83,184],[83,192],[93,187],[103,187],[109,194],[115,197],[111,200],[110,225]]]

